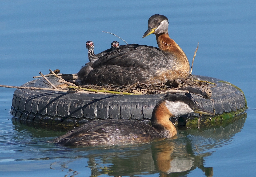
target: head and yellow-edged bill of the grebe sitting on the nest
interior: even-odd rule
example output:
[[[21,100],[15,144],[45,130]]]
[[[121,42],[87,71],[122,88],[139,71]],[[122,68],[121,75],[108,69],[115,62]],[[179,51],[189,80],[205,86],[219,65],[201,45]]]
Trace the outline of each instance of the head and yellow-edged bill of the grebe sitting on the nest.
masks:
[[[166,16],[163,15],[152,15],[149,18],[148,27],[149,29],[144,33],[143,37],[148,36],[149,34],[161,34],[168,33],[169,21]]]

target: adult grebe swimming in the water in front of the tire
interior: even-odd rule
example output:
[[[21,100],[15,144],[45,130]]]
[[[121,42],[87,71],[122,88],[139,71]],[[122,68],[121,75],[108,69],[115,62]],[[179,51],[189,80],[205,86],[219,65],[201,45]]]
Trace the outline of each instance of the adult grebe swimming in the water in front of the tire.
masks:
[[[51,143],[91,146],[147,143],[155,138],[170,138],[177,134],[170,118],[193,112],[214,115],[195,105],[186,96],[170,94],[155,105],[151,117],[152,126],[138,120],[96,120],[54,139]]]

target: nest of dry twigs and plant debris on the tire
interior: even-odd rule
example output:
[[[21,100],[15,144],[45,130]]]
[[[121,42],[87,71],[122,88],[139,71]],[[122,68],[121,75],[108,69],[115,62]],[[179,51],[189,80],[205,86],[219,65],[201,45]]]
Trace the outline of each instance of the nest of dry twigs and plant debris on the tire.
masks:
[[[50,70],[51,71],[51,70]],[[56,71],[56,70],[55,70]],[[194,93],[197,95],[201,95],[204,98],[211,98],[211,89],[212,87],[216,87],[217,84],[211,83],[209,81],[198,80],[197,76],[190,75],[187,79],[175,79],[172,81],[167,81],[166,83],[154,84],[154,85],[146,85],[141,84],[139,82],[134,83],[133,85],[106,85],[106,86],[98,86],[98,85],[83,85],[77,86],[75,85],[75,80],[77,79],[76,74],[60,74],[55,71],[51,71],[51,74],[43,75],[41,72],[39,74],[41,76],[34,76],[33,78],[43,77],[46,82],[52,88],[38,88],[38,87],[17,87],[17,86],[8,86],[8,85],[0,85],[0,87],[7,88],[19,88],[19,89],[39,89],[39,90],[51,90],[58,92],[71,92],[71,93],[101,93],[101,94],[125,94],[125,95],[141,95],[141,94],[167,94],[167,93]],[[56,87],[47,79],[47,77],[58,77],[60,82]],[[213,84],[214,86],[210,86],[209,84]]]

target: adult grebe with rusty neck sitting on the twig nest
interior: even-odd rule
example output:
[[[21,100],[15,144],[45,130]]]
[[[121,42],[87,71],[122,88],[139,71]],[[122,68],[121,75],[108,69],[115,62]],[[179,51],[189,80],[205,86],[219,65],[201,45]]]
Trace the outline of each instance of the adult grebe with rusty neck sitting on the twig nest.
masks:
[[[143,37],[155,34],[159,48],[146,45],[121,45],[118,50],[100,57],[88,75],[78,72],[80,85],[127,85],[139,81],[158,84],[176,78],[187,78],[190,65],[183,50],[168,34],[168,19],[153,15]]]

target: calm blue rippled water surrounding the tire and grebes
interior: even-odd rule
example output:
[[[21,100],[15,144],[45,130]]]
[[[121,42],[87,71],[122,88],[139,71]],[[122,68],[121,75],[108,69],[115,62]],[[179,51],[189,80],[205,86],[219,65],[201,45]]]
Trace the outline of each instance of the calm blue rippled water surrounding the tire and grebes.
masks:
[[[169,18],[169,35],[191,63],[193,74],[240,87],[249,109],[233,123],[179,130],[157,143],[66,148],[48,144],[65,132],[13,124],[15,89],[0,88],[1,176],[254,176],[256,166],[256,1],[0,1],[0,84],[20,86],[49,69],[76,73],[117,37],[157,46],[142,38],[148,18]]]

